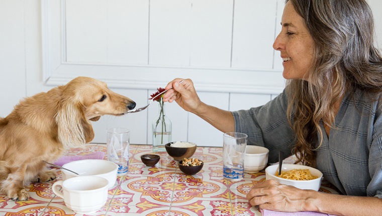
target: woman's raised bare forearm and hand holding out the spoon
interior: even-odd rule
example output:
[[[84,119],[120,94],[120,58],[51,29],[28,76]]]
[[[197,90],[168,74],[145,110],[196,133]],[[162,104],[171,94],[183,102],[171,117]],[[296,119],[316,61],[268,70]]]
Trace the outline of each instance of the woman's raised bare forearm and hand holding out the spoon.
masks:
[[[169,89],[163,95],[163,101],[176,101],[185,111],[191,112],[206,122],[210,123],[223,133],[234,132],[235,123],[232,113],[202,102],[195,90],[194,83],[190,79],[176,78],[169,82],[165,89]]]

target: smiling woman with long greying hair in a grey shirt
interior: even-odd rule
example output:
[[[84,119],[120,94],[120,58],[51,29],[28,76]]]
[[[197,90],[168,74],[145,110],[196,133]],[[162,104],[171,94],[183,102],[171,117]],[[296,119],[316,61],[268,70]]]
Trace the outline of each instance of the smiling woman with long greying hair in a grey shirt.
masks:
[[[373,46],[373,20],[364,0],[287,0],[280,51],[284,91],[267,104],[228,112],[203,103],[193,82],[174,79],[164,101],[175,100],[222,132],[248,135],[248,144],[296,154],[342,194],[257,183],[247,198],[276,211],[337,215],[382,212],[382,58]]]

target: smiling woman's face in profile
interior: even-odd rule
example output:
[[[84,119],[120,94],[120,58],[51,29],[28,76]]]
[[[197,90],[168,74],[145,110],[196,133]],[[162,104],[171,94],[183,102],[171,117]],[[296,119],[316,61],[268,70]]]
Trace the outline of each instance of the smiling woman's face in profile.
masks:
[[[281,17],[281,32],[273,43],[273,49],[281,52],[282,76],[285,79],[307,79],[313,64],[313,39],[291,2],[285,5]]]

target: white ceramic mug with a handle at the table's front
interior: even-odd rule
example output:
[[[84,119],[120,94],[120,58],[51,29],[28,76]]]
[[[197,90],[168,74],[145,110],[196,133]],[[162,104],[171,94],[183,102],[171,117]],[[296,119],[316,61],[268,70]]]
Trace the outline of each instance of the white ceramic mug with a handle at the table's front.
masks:
[[[90,214],[102,208],[108,199],[109,181],[99,176],[77,176],[57,181],[53,192],[64,199],[65,205],[79,214]],[[63,192],[58,188],[62,187]]]

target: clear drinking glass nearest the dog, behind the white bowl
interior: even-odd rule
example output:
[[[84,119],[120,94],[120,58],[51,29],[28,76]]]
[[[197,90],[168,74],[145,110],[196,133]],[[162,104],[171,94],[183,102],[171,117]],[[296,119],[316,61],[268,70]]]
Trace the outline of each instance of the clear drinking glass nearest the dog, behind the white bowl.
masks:
[[[129,171],[130,131],[125,128],[111,128],[106,131],[108,160],[118,165],[118,175]]]

